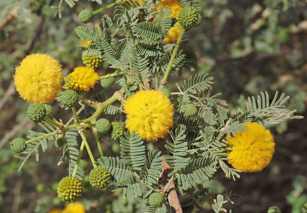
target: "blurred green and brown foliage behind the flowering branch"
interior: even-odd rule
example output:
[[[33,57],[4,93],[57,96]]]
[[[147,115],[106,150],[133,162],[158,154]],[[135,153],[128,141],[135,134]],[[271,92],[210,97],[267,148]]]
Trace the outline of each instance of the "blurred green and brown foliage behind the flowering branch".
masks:
[[[61,151],[51,143],[45,153],[40,153],[38,162],[31,156],[18,172],[21,162],[13,158],[9,142],[15,137],[26,137],[33,128],[40,131],[26,116],[29,103],[15,91],[12,80],[15,66],[33,52],[55,57],[62,64],[64,75],[81,66],[82,50],[77,47],[80,39],[75,34],[75,27],[80,25],[78,13],[112,3],[69,2],[76,5],[70,7],[62,0],[0,1],[0,212],[44,213],[64,209],[64,203],[56,197],[56,185],[67,173],[66,165],[56,165]],[[59,4],[61,19],[59,13],[55,16]],[[199,6],[203,22],[185,34],[180,48],[196,52],[195,72],[208,72],[214,77],[215,92],[223,94],[221,99],[228,102],[232,112],[238,107],[246,108],[248,96],[268,91],[273,97],[278,90],[290,95],[289,110],[297,109],[297,115],[306,117],[307,1],[200,0]],[[114,8],[110,8],[95,15],[87,26],[101,24],[103,14],[113,17],[113,12]],[[118,33],[115,43],[120,38]],[[112,72],[106,64],[96,71],[100,76]],[[174,83],[182,87],[183,79],[190,75],[194,73],[186,71],[181,77],[173,74],[169,89],[177,91]],[[96,84],[92,95],[101,89]],[[115,90],[111,88],[110,94]],[[54,106],[57,118],[69,119],[70,113],[65,113],[58,104]],[[241,174],[237,181],[226,180],[221,173],[217,180],[204,185],[211,189],[212,196],[218,193],[227,196],[231,200],[227,209],[233,212],[266,212],[268,207],[278,206],[283,213],[299,213],[301,205],[307,202],[305,126],[305,119],[283,122],[274,128],[266,126],[276,142],[273,160],[267,168]],[[120,155],[120,147],[114,141],[104,141],[102,146],[106,156]],[[96,152],[94,155],[98,156]],[[87,154],[84,158],[88,159]],[[91,166],[86,161],[83,166],[88,174]],[[91,190],[80,200],[87,212],[144,212],[146,201],[140,198],[127,200],[119,191],[108,194],[91,189],[88,176],[83,184],[86,192]]]

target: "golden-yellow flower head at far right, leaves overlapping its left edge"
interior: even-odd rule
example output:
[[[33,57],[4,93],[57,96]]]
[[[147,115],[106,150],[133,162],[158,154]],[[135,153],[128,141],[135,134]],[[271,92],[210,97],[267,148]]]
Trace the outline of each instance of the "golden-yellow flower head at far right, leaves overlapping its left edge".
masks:
[[[247,123],[246,130],[227,137],[228,146],[232,146],[228,162],[243,172],[258,172],[272,160],[275,143],[269,130],[255,122]]]

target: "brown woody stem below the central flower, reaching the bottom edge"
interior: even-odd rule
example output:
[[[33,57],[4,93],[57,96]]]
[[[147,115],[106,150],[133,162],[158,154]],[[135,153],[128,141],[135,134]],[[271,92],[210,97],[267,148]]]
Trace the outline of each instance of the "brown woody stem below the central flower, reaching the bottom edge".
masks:
[[[158,149],[159,151],[161,151],[161,156],[170,155],[169,150],[165,148],[166,140],[169,140],[169,138],[165,137],[157,142]],[[169,182],[170,177],[168,176],[168,174],[171,171],[172,171],[172,168],[166,162],[164,162],[164,158],[163,158],[162,171],[159,176],[160,185],[165,186]],[[169,200],[169,205],[171,206],[172,212],[182,213],[182,209],[181,209],[180,202],[177,196],[174,181],[172,181],[171,184],[169,185],[166,195],[167,195],[167,199]]]

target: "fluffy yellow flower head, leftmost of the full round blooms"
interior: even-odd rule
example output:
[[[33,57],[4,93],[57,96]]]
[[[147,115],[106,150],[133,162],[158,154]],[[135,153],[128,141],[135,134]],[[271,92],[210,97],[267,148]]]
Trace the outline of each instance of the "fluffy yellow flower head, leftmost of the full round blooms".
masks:
[[[62,90],[61,65],[47,54],[26,56],[16,67],[14,83],[20,97],[32,103],[53,101]]]

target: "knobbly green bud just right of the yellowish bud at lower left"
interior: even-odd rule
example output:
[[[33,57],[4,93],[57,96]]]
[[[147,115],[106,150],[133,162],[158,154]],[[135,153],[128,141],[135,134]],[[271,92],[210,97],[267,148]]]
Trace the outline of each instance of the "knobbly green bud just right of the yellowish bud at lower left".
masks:
[[[106,168],[95,167],[91,170],[88,179],[93,188],[102,189],[109,185],[111,177]]]

